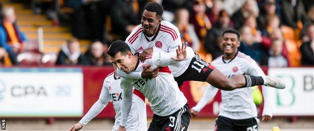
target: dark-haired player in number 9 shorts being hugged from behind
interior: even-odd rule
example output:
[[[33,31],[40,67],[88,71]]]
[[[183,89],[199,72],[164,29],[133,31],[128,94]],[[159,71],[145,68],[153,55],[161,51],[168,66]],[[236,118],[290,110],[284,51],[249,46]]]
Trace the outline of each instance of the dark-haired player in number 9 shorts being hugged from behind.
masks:
[[[124,41],[117,40],[111,44],[107,52],[111,61],[127,74],[141,72],[148,65],[160,67],[159,75],[152,79],[121,78],[123,111],[119,130],[125,130],[133,87],[148,99],[154,113],[148,130],[187,130],[191,118],[187,99],[167,67],[170,63],[193,57],[193,50],[186,46],[177,47],[176,52],[153,52],[147,55],[145,62],[140,62],[138,54],[133,54]]]

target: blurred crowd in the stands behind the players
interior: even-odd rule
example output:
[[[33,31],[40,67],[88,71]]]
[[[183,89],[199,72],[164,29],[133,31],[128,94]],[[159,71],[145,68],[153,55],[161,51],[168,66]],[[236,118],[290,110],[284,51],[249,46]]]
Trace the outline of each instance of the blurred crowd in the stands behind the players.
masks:
[[[11,0],[1,1],[0,67],[105,65],[105,52],[114,40],[125,40],[140,24],[151,0]],[[241,33],[239,50],[268,67],[314,64],[314,1],[308,0],[155,0],[164,6],[163,20],[180,30],[181,40],[210,62],[222,55],[220,41],[226,29]],[[8,6],[19,3],[24,6]],[[24,10],[45,16],[47,30],[64,27],[54,50],[38,49],[38,37],[28,39],[28,25],[19,25]],[[37,19],[36,19],[37,20]],[[35,19],[33,23],[36,23]],[[27,20],[26,20],[27,21]],[[23,24],[23,21],[21,20]],[[32,23],[32,21],[31,21]],[[48,28],[51,26],[52,28]],[[45,30],[46,29],[46,30]],[[62,28],[61,28],[62,29]],[[25,30],[25,32],[24,32]],[[34,31],[33,31],[34,32]],[[36,32],[36,31],[35,31]],[[52,36],[57,36],[54,32]],[[62,32],[63,33],[63,32]],[[61,33],[61,34],[62,34]],[[39,34],[38,34],[39,35]],[[30,35],[32,36],[32,35]],[[63,35],[65,36],[65,35]],[[48,38],[47,38],[48,37]],[[47,39],[45,39],[47,38]],[[56,43],[56,42],[55,42]],[[60,43],[60,42],[59,42]],[[86,44],[85,44],[86,43]],[[82,48],[84,46],[84,48]]]

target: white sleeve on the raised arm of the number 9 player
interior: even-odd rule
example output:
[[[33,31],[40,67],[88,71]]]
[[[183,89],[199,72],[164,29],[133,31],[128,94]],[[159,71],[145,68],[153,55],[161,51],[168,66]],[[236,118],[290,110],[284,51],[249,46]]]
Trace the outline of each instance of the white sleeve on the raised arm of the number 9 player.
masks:
[[[187,57],[183,60],[191,59],[194,56],[194,51],[191,47],[186,48]],[[172,57],[177,57],[177,52],[165,52],[160,48],[153,47],[152,62],[153,67],[166,67],[171,63],[179,62],[172,59]]]

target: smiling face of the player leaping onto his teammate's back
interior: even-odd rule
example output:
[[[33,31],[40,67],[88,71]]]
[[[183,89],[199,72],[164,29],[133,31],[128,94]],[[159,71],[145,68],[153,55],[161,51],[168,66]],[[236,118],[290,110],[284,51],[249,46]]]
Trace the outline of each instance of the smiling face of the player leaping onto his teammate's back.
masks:
[[[155,12],[144,10],[141,20],[143,33],[149,37],[153,36],[157,32],[158,26],[161,22],[162,19],[159,18]]]

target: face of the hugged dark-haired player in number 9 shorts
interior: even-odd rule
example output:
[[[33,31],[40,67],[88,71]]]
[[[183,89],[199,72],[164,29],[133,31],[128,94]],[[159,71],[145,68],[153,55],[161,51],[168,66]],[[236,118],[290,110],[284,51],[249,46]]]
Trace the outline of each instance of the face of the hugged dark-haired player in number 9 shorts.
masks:
[[[111,62],[114,63],[118,69],[122,70],[125,73],[130,73],[130,56],[121,52],[116,53],[114,57],[110,57]]]

